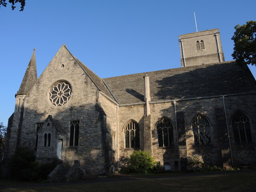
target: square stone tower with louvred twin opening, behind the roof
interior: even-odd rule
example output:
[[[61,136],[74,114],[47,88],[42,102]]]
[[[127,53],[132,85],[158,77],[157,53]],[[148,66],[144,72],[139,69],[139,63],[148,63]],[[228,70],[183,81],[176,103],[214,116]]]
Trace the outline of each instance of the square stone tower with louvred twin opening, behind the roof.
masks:
[[[224,62],[219,29],[179,36],[182,67]]]

